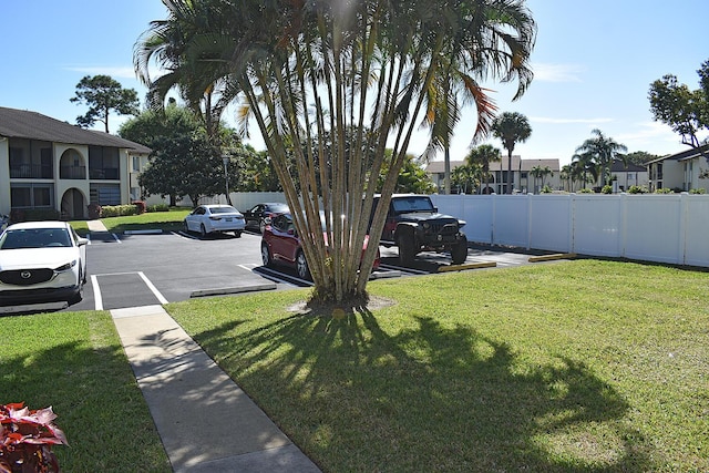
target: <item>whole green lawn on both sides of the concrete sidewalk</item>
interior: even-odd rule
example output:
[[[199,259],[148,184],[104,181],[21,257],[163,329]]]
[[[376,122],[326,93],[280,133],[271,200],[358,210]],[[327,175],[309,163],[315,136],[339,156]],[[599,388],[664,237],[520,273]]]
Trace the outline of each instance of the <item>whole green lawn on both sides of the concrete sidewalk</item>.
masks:
[[[343,317],[289,310],[305,290],[167,310],[326,472],[700,472],[708,288],[576,260],[377,280],[391,305]],[[169,471],[107,313],[0,317],[0,360],[64,471]]]

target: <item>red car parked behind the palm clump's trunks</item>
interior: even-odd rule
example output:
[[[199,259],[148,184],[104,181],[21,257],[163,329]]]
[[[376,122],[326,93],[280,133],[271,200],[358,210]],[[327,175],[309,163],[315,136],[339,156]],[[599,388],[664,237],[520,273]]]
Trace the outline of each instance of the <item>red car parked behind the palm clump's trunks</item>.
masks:
[[[325,214],[320,213],[322,229],[325,230]],[[327,241],[327,235],[325,235]],[[362,254],[367,249],[369,236],[364,237],[364,247]],[[289,213],[280,214],[271,218],[270,224],[264,228],[261,236],[261,259],[264,266],[273,266],[281,264],[296,268],[298,277],[301,279],[310,279],[310,269],[306,255],[302,251],[300,237],[296,232],[292,216]],[[374,259],[373,269],[379,268],[379,250],[377,250],[377,259]]]

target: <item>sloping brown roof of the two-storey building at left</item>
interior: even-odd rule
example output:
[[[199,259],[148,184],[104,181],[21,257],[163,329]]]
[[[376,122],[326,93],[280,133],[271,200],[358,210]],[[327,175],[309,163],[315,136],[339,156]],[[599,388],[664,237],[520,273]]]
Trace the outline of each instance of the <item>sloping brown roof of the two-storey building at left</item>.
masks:
[[[41,113],[0,106],[0,136],[52,143],[111,146],[150,153],[151,148],[109,133],[84,130]]]

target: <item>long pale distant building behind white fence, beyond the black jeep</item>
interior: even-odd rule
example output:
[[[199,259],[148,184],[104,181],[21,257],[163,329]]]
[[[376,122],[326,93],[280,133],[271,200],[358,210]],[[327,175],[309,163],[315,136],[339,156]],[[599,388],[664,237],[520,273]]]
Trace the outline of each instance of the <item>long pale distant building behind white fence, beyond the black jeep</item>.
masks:
[[[451,173],[458,166],[465,164],[464,161],[451,161]],[[425,172],[431,176],[433,183],[440,191],[444,188],[444,169],[445,163],[443,161],[433,161],[429,163]],[[532,174],[532,169],[536,166],[545,168],[548,166],[552,174],[545,175],[543,178],[535,178]],[[559,177],[559,162],[558,160],[522,160],[518,155],[512,155],[512,178],[513,178],[513,192],[518,193],[538,193],[542,187],[549,186],[553,189],[562,188],[562,181]],[[507,188],[507,157],[503,156],[502,161],[496,163],[490,163],[490,173],[492,175],[489,189],[483,189],[486,194],[505,194]],[[484,184],[483,184],[484,186]]]

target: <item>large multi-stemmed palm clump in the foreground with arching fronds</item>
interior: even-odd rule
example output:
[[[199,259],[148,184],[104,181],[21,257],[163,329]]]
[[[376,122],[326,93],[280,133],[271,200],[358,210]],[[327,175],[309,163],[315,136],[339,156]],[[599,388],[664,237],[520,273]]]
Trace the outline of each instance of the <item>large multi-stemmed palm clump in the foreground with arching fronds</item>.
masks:
[[[191,100],[210,91],[237,101],[242,132],[255,122],[296,228],[309,236],[314,301],[366,299],[386,210],[421,121],[432,143],[449,143],[455,111],[469,99],[484,134],[491,102],[476,80],[516,79],[520,94],[531,80],[535,25],[521,1],[163,2],[168,18],[151,23],[135,49],[140,76],[155,103],[173,88]],[[151,61],[166,79],[150,80]],[[338,216],[326,218],[327,241],[321,210]]]

